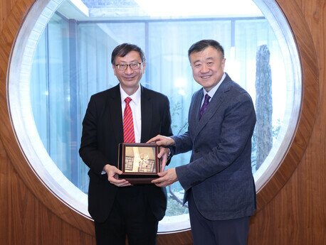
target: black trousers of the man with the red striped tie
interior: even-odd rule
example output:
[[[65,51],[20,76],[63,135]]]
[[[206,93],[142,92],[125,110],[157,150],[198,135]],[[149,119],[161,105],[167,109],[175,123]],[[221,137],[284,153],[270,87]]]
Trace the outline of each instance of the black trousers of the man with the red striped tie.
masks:
[[[120,187],[109,217],[95,222],[97,245],[154,245],[158,221],[152,214],[142,186]]]

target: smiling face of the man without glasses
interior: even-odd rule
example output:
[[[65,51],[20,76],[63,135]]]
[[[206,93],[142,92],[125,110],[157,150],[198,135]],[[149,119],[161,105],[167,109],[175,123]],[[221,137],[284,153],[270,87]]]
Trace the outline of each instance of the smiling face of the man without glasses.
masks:
[[[215,48],[207,47],[189,56],[192,75],[207,92],[219,83],[223,74],[225,59]]]

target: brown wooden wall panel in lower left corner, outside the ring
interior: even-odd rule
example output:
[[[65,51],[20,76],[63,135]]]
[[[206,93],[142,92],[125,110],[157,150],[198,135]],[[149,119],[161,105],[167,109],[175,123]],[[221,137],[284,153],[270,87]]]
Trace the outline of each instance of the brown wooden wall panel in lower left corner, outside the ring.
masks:
[[[57,217],[26,188],[0,141],[0,244],[88,245],[93,236]]]

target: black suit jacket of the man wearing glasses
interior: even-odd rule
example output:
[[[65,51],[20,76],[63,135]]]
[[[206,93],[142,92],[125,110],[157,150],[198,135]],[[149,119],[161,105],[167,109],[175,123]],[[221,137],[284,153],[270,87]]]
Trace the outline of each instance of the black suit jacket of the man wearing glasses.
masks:
[[[141,87],[142,135],[144,143],[157,134],[172,135],[169,99],[163,94]],[[83,120],[80,157],[90,168],[88,175],[88,211],[97,222],[107,219],[119,187],[101,175],[105,164],[117,167],[118,144],[123,142],[122,109],[119,85],[90,97]],[[129,188],[129,187],[128,187]],[[131,187],[133,188],[133,187]],[[143,185],[149,205],[157,219],[167,208],[165,188]]]

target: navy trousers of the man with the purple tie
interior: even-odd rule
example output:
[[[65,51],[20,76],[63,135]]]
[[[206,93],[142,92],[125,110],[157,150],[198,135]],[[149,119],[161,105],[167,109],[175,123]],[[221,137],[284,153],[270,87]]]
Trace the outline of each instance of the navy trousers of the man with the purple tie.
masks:
[[[201,215],[189,193],[189,217],[194,245],[246,245],[250,217],[209,220]]]

